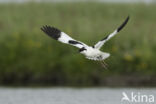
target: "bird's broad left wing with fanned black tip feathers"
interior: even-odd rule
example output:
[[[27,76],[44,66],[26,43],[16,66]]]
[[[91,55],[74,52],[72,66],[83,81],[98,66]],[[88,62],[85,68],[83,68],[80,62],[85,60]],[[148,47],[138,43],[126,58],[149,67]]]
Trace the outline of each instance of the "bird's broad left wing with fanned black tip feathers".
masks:
[[[71,37],[69,37],[66,33],[60,31],[59,29],[51,26],[43,26],[41,30],[46,33],[48,36],[52,37],[55,40],[58,40],[62,43],[70,44],[78,48],[87,47],[86,44],[77,41]]]

